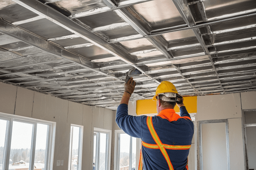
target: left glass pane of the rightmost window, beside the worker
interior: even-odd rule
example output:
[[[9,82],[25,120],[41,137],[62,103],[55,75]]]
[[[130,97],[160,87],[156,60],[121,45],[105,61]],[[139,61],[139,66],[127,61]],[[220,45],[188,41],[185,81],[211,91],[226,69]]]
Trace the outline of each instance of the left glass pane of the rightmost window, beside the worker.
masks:
[[[128,134],[120,134],[120,161],[119,169],[126,170],[129,169],[129,159],[130,157],[130,136]]]

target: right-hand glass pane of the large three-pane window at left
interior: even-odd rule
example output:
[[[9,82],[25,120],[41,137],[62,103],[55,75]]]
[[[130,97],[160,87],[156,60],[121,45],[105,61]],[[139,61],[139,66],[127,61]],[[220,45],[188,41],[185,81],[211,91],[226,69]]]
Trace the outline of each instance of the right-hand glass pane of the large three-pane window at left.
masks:
[[[37,123],[37,141],[34,157],[34,170],[42,170],[45,166],[48,125]]]

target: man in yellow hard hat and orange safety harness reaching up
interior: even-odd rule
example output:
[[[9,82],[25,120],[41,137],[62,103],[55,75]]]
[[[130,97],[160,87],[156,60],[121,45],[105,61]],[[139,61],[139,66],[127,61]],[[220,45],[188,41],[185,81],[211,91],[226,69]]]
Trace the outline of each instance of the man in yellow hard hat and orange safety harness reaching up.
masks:
[[[188,170],[187,156],[194,125],[183,98],[172,83],[163,81],[153,97],[157,101],[158,115],[131,116],[128,115],[128,102],[135,85],[133,78],[125,84],[116,122],[126,134],[142,139],[139,170]],[[174,111],[176,103],[181,116]]]

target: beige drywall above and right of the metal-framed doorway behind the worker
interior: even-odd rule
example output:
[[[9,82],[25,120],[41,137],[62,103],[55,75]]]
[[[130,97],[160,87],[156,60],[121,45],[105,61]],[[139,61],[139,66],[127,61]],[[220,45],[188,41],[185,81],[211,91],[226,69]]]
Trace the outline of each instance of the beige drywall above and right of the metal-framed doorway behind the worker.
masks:
[[[219,119],[228,119],[229,123],[230,169],[244,170],[240,93],[197,97],[197,122]]]

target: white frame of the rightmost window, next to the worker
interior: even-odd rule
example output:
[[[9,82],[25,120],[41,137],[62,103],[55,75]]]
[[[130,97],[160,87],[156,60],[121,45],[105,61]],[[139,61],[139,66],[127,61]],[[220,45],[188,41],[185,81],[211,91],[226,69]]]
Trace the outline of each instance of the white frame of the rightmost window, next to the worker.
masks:
[[[115,139],[115,143],[114,143],[114,170],[119,170],[119,159],[120,159],[120,134],[125,134],[125,132],[123,132],[123,130],[115,130],[115,134],[114,134],[114,139]],[[133,145],[133,141],[131,140],[133,137],[130,136],[130,155],[129,155],[129,170],[131,170],[131,164],[132,164],[132,145]],[[137,169],[137,152],[138,149],[140,149],[138,147],[138,138],[136,139],[136,167],[135,169]],[[141,143],[141,142],[140,142]]]

